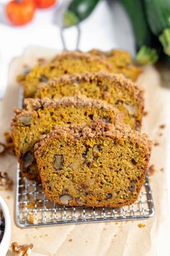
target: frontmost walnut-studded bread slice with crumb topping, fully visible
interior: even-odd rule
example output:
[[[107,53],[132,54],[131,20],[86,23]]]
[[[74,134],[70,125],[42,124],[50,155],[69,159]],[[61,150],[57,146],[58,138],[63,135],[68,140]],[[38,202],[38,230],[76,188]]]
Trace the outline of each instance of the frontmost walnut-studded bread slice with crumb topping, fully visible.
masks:
[[[55,127],[35,145],[45,195],[68,206],[132,204],[145,180],[150,155],[147,135],[103,121]]]

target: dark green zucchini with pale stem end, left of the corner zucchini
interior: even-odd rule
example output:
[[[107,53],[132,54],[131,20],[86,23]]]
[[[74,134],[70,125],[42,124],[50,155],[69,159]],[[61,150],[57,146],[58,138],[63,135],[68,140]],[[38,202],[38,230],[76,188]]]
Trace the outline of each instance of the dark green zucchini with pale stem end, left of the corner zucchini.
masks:
[[[136,60],[140,64],[154,64],[158,60],[158,52],[153,48],[153,35],[148,26],[143,1],[122,0],[130,17],[135,35],[135,44],[138,51]]]

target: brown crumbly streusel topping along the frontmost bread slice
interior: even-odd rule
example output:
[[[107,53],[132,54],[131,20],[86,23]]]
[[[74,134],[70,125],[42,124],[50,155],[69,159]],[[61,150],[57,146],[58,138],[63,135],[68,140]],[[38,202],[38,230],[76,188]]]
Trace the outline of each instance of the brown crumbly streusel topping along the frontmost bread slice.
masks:
[[[88,139],[89,137],[104,136],[104,137],[117,137],[117,138],[132,138],[136,142],[140,143],[144,150],[148,153],[151,151],[153,142],[149,139],[145,133],[133,131],[129,126],[125,124],[105,124],[102,120],[93,121],[91,124],[71,124],[64,127],[56,126],[53,131],[47,135],[40,137],[40,142],[35,145],[35,150],[40,148],[43,143],[48,140],[53,140],[58,135],[62,137],[69,137],[71,140],[79,140],[81,137]]]

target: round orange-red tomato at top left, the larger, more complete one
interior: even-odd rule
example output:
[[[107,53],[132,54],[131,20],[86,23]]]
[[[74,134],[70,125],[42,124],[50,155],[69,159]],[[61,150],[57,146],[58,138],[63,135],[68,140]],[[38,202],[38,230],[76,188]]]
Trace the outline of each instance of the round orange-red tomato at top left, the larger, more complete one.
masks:
[[[6,4],[6,15],[13,25],[25,25],[35,14],[35,3],[32,0],[12,0]]]

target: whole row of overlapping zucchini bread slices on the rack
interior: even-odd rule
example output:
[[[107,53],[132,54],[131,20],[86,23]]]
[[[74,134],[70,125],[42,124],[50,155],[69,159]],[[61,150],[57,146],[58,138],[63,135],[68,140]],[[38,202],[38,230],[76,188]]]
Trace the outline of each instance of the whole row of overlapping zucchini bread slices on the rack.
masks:
[[[12,119],[14,148],[22,175],[42,182],[52,202],[119,207],[138,198],[151,155],[151,140],[137,132],[138,74],[125,51],[92,50],[19,75],[28,99]]]

